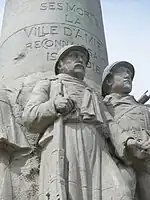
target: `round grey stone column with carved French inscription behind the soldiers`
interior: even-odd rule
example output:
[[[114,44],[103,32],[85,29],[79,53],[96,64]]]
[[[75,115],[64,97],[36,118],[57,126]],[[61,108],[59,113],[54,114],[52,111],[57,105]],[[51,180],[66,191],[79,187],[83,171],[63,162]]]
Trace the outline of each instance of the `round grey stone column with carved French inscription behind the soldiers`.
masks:
[[[58,50],[88,48],[86,78],[99,87],[108,64],[99,0],[6,0],[0,43],[0,80],[12,84],[38,72],[54,73]]]

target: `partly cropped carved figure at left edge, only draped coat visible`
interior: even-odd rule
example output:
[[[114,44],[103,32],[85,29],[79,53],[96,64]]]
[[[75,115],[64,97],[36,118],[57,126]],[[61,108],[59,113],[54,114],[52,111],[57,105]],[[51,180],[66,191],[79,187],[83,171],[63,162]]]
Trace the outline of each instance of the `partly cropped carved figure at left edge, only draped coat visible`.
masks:
[[[5,86],[0,88],[0,199],[13,199],[13,186],[11,180],[11,159],[19,153],[26,155],[31,147],[15,122],[9,101],[8,90]]]

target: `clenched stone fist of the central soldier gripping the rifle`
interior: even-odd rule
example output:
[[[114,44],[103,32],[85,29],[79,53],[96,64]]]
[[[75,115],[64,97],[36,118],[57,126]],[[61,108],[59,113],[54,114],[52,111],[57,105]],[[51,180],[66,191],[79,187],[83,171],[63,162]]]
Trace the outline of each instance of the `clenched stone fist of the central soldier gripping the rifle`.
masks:
[[[74,101],[70,97],[62,97],[57,95],[54,101],[56,111],[62,115],[66,115],[74,109]]]

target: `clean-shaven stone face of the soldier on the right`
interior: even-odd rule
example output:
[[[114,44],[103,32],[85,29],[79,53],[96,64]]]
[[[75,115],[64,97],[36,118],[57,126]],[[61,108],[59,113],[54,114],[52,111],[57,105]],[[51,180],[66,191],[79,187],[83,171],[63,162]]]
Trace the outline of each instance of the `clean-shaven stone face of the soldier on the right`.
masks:
[[[112,72],[111,91],[115,93],[129,94],[132,90],[132,72],[130,69],[120,66]]]

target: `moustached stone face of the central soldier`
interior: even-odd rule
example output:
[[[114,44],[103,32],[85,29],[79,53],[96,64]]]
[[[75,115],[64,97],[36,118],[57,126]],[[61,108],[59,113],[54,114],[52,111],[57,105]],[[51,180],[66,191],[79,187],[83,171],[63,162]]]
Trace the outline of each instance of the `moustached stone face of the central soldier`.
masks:
[[[80,51],[70,51],[63,59],[62,65],[67,69],[68,74],[80,80],[84,79],[87,56]]]

